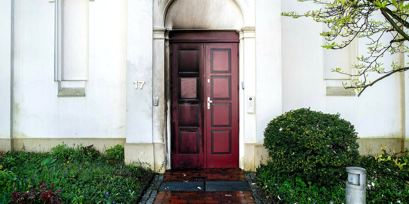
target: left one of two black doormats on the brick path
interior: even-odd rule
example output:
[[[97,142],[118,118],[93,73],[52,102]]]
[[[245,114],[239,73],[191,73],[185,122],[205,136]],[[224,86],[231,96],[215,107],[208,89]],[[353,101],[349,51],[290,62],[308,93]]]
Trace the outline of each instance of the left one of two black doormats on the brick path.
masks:
[[[204,189],[203,181],[165,181],[159,187],[159,191],[204,191]]]

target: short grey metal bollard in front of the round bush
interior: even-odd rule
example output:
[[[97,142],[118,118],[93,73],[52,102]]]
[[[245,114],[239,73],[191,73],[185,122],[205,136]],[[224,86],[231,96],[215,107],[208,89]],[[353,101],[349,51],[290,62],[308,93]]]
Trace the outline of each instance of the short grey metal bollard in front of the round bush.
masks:
[[[345,188],[345,204],[366,204],[366,170],[346,167],[348,181]]]

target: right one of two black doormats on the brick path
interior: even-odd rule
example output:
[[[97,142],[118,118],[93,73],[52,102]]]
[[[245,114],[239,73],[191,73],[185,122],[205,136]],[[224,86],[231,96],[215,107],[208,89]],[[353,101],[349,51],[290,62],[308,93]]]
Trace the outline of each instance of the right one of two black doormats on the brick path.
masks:
[[[247,181],[206,181],[206,191],[250,191]]]

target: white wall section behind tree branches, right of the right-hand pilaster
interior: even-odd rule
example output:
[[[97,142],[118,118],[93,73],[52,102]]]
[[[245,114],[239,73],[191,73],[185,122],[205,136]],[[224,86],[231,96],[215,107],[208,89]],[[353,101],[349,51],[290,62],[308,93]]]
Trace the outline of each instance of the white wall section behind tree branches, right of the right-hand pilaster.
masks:
[[[307,2],[282,0],[282,11],[302,13]],[[318,7],[319,8],[319,7]],[[339,80],[323,80],[322,24],[311,19],[282,17],[283,110],[301,107],[324,113],[340,113],[351,121],[360,137],[402,137],[403,107],[401,77],[392,75],[366,89],[360,97],[325,96],[326,86],[341,87]],[[358,43],[358,55],[366,53]],[[385,56],[385,68],[399,56]]]

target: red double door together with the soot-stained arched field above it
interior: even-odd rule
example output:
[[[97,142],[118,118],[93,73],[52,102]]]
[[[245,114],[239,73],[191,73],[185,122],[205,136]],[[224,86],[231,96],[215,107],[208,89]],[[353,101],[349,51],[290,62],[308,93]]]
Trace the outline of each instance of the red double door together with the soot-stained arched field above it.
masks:
[[[171,167],[238,167],[240,7],[234,0],[174,0],[164,25],[169,30]]]

